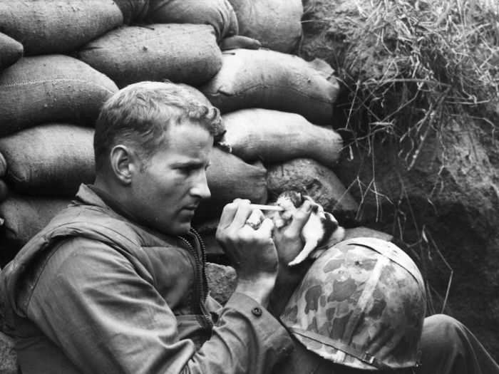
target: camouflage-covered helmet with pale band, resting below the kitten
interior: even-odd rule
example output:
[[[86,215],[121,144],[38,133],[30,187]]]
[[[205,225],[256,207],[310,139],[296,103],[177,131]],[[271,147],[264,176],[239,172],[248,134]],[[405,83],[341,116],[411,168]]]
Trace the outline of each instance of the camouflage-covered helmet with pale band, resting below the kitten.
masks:
[[[418,365],[426,312],[423,277],[389,241],[355,238],[310,267],[281,319],[323,358],[364,370]]]

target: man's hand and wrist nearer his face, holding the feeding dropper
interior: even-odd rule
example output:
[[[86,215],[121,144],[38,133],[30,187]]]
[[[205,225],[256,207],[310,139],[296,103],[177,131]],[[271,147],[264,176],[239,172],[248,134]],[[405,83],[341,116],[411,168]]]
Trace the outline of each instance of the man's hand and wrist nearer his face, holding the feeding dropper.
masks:
[[[216,237],[236,270],[236,291],[267,306],[279,266],[272,241],[274,224],[264,219],[258,229],[253,229],[246,224],[252,211],[249,200],[235,199],[227,204]]]

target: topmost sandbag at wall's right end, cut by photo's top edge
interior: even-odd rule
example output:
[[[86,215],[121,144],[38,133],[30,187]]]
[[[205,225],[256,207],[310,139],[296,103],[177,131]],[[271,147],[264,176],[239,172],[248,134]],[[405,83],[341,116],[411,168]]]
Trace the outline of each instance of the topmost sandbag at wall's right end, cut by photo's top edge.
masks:
[[[266,48],[293,51],[302,38],[302,0],[229,0],[240,35],[259,40]]]

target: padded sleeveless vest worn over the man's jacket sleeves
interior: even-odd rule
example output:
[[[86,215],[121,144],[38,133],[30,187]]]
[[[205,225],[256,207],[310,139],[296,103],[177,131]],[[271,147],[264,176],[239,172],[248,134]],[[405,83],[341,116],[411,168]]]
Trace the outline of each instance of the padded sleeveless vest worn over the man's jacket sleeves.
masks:
[[[100,241],[125,256],[175,313],[179,338],[190,338],[200,346],[210,336],[212,317],[220,304],[207,294],[204,247],[197,233],[191,232],[190,240],[160,238],[109,208],[79,202],[54,217],[1,271],[0,311],[6,333],[14,331],[14,321],[19,330],[23,324],[19,321],[27,318],[29,301],[48,254],[71,237]],[[163,264],[171,261],[181,269],[179,274],[163,271]]]

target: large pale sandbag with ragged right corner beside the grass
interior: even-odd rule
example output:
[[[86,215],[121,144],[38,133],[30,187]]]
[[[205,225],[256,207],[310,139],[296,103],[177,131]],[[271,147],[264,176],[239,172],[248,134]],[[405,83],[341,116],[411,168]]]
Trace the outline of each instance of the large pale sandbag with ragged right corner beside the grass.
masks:
[[[298,113],[329,125],[339,84],[324,61],[267,50],[232,49],[223,53],[217,75],[200,90],[222,113],[265,108]]]

